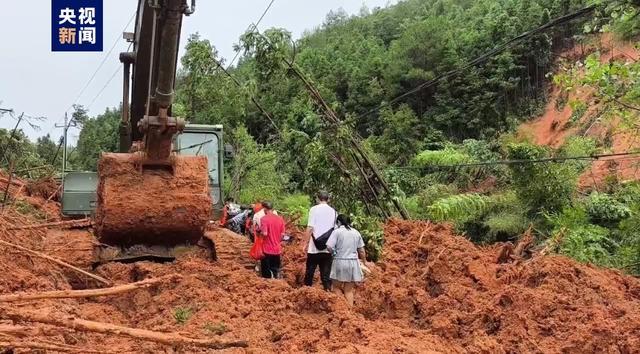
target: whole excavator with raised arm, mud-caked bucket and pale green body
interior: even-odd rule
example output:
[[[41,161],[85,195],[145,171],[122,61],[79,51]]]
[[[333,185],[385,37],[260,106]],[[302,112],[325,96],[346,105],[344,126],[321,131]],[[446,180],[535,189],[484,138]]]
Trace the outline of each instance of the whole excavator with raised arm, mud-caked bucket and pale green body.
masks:
[[[64,178],[63,214],[93,215],[100,261],[171,260],[183,246],[213,248],[204,236],[222,207],[222,127],[187,124],[171,109],[182,20],[195,5],[138,0],[135,32],[124,34],[133,51],[120,54],[119,152],[102,153],[97,174]]]

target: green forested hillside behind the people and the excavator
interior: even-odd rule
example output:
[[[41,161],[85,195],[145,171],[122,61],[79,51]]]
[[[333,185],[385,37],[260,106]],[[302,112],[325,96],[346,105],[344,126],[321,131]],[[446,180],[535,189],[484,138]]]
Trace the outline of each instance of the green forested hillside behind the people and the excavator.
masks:
[[[428,84],[593,4],[585,16]],[[412,218],[453,222],[476,242],[529,232],[581,261],[640,273],[640,184],[611,178],[606,189],[579,188],[590,161],[572,159],[606,154],[611,144],[574,131],[559,146],[540,146],[515,133],[556,104],[549,102],[554,90],[564,92],[558,107],[570,106],[574,121],[597,99],[607,112],[600,119],[634,127],[638,61],[600,60],[604,48],[595,39],[604,32],[637,45],[639,7],[637,0],[406,0],[356,16],[337,10],[297,40],[280,28],[245,33],[229,68],[215,43],[193,34],[173,111],[193,123],[224,125],[236,151],[226,162],[227,194],[245,203],[271,199],[293,214],[327,189],[341,211],[356,216],[374,255],[383,242],[380,210],[395,200]],[[594,94],[581,101],[570,94],[578,87]],[[337,123],[327,123],[328,111]],[[83,130],[71,161],[90,169],[100,151],[117,147],[118,112],[77,116]],[[370,195],[351,139],[381,171],[392,199]],[[545,159],[551,161],[494,163]]]

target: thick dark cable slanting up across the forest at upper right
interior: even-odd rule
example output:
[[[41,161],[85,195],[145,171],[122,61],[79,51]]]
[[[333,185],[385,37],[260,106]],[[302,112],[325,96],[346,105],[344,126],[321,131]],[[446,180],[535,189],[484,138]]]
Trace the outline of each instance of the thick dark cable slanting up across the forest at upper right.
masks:
[[[508,48],[512,47],[513,45],[515,45],[516,43],[522,41],[523,39],[531,37],[531,36],[533,36],[535,34],[538,34],[540,32],[544,32],[544,31],[546,31],[546,30],[548,30],[550,28],[553,28],[555,26],[562,25],[562,24],[565,24],[567,22],[573,21],[573,20],[575,20],[577,18],[586,16],[586,15],[592,13],[595,9],[596,9],[596,5],[591,5],[591,6],[584,7],[582,9],[577,10],[575,12],[572,12],[570,14],[555,18],[555,19],[547,22],[546,24],[544,24],[544,25],[542,25],[540,27],[537,27],[537,28],[532,29],[530,31],[524,32],[524,33],[522,33],[522,34],[520,34],[520,35],[518,35],[516,37],[513,37],[510,40],[502,43],[501,45],[499,45],[499,46],[491,49],[490,51],[482,54],[481,56],[479,56],[479,57],[467,62],[465,65],[459,67],[458,69],[447,71],[446,73],[444,73],[442,75],[436,76],[435,78],[433,78],[431,80],[425,81],[422,84],[412,88],[411,90],[409,90],[409,91],[407,91],[407,92],[405,92],[405,93],[403,93],[401,95],[396,96],[391,101],[383,102],[382,104],[380,104],[376,108],[373,108],[373,109],[371,109],[371,110],[359,115],[356,119],[361,119],[363,117],[366,117],[366,116],[370,115],[371,113],[378,112],[382,108],[384,108],[386,106],[391,106],[392,104],[398,102],[399,100],[401,100],[401,99],[403,99],[403,98],[405,98],[407,96],[413,95],[416,92],[419,92],[419,91],[424,90],[425,88],[431,87],[431,86],[437,84],[438,82],[440,82],[442,80],[445,80],[445,79],[448,79],[450,77],[456,76],[456,75],[462,73],[463,71],[465,71],[465,70],[467,70],[467,69],[469,69],[469,68],[471,68],[473,66],[476,66],[478,64],[484,63],[485,61],[487,61],[491,57],[495,56],[496,54],[499,54],[500,52],[504,51],[505,49],[508,49]]]

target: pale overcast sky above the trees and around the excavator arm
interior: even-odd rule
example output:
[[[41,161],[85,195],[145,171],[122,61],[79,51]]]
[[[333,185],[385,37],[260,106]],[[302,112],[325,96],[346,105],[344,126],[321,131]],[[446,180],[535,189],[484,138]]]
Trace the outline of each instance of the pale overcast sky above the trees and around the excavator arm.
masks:
[[[234,43],[251,23],[260,18],[269,2],[198,0],[196,12],[183,20],[181,46],[190,34],[199,32],[229,61],[235,55]],[[363,6],[373,9],[396,2],[275,0],[258,29],[282,27],[291,31],[294,38],[299,38],[305,30],[321,25],[331,10],[342,8],[348,14],[357,14]],[[40,130],[21,125],[35,141],[46,134],[57,140],[62,129],[54,125],[62,124],[65,111],[70,114],[73,103],[88,107],[91,116],[104,112],[107,107],[117,107],[122,101],[122,71],[118,55],[128,46],[122,39],[122,32],[136,7],[136,0],[104,0],[103,52],[51,52],[51,1],[3,2],[0,11],[0,108],[14,109],[16,117],[21,112],[32,117],[46,117],[46,120],[37,122]],[[127,31],[133,32],[133,22]],[[107,56],[114,43],[113,51]],[[10,129],[15,123],[8,114],[0,116],[0,128]],[[76,140],[78,134],[77,129],[70,130],[69,139]]]

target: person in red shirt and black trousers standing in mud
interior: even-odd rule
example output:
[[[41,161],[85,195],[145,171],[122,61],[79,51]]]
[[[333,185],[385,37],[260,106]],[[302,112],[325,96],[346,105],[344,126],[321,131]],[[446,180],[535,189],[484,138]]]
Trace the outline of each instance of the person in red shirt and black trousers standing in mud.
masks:
[[[281,267],[282,246],[280,242],[285,232],[285,223],[282,217],[273,212],[273,205],[270,202],[263,202],[262,210],[265,215],[260,220],[260,233],[264,237],[262,244],[264,258],[260,260],[260,271],[263,278],[277,279]]]

